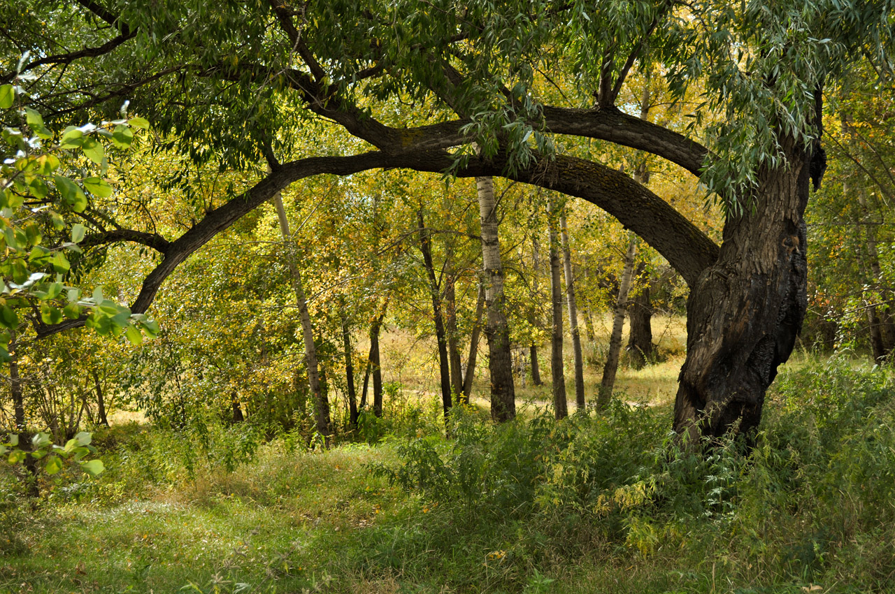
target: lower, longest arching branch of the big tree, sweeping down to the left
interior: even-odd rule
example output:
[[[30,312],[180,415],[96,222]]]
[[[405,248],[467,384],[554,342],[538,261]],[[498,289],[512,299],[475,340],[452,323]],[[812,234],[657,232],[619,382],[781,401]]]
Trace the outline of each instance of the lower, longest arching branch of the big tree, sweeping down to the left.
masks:
[[[401,168],[442,173],[454,165],[455,158],[442,150],[405,152],[401,155],[376,151],[353,157],[309,157],[279,165],[249,191],[209,211],[200,223],[175,242],[169,242],[163,251],[165,258],[143,281],[131,310],[145,312],[161,284],[183,260],[293,182],[311,175],[348,175],[370,169]],[[519,182],[586,199],[618,218],[622,225],[658,250],[687,284],[695,283],[703,269],[718,258],[718,246],[677,210],[626,174],[606,165],[575,157],[558,157],[553,161],[541,158],[516,174],[507,175],[506,172],[505,159],[486,161],[482,158],[473,158],[455,170],[457,177],[507,176]],[[43,327],[38,330],[38,336],[52,335],[68,327],[82,326],[83,323],[82,319],[78,319]]]

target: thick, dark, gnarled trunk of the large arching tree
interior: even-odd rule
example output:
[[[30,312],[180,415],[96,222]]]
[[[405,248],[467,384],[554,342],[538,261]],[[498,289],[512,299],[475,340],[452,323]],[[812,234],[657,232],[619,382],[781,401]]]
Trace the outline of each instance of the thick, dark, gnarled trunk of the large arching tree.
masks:
[[[817,90],[815,125],[821,127]],[[693,444],[732,429],[752,435],[764,394],[796,344],[807,307],[805,205],[823,174],[823,151],[780,137],[784,165],[758,171],[742,214],[729,216],[717,262],[687,300],[687,352],[674,429]]]

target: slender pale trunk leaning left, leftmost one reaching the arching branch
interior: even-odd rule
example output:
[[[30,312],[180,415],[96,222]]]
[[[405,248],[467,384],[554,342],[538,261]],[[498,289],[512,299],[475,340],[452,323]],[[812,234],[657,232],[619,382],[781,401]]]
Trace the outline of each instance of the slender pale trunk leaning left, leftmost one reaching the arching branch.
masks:
[[[304,342],[304,364],[308,370],[308,384],[311,387],[311,395],[314,398],[314,420],[317,431],[321,436],[328,437],[332,434],[329,420],[329,400],[320,383],[320,365],[317,361],[317,347],[314,344],[314,329],[311,326],[311,314],[308,313],[308,302],[304,296],[302,275],[298,269],[298,262],[292,233],[289,231],[289,220],[286,218],[286,209],[283,208],[283,199],[279,192],[272,199],[277,208],[280,232],[283,234],[283,242],[286,244],[286,258],[289,260],[289,271],[292,273],[292,285],[295,292],[295,303],[298,305],[298,314],[302,319],[302,337]]]

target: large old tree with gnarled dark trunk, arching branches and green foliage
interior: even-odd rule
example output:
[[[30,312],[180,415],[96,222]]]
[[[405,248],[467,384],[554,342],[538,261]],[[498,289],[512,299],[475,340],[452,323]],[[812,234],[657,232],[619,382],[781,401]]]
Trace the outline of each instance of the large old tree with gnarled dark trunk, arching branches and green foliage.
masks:
[[[176,237],[87,219],[92,244],[159,252],[132,310],[149,308],[166,276],[216,233],[304,177],[376,168],[502,176],[598,205],[689,284],[675,428],[692,437],[760,420],[805,313],[803,212],[823,173],[823,89],[856,59],[890,72],[892,55],[889,0],[16,6],[0,21],[0,49],[30,50],[22,69],[48,120],[130,99],[168,149],[251,181]],[[629,72],[646,68],[664,72],[691,125],[619,108]],[[320,151],[323,133],[339,151]],[[725,206],[720,247],[643,185],[581,157],[600,151],[579,138],[649,151],[700,176]]]

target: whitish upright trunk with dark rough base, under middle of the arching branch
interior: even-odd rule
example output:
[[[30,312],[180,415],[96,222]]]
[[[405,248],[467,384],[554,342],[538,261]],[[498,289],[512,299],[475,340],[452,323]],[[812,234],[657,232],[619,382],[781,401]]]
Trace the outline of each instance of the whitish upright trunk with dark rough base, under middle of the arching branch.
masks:
[[[516,386],[513,384],[513,360],[510,353],[509,327],[504,299],[503,264],[500,261],[497,200],[490,177],[475,178],[479,215],[482,219],[482,265],[485,272],[485,301],[488,324],[489,370],[491,378],[491,419],[516,417]]]

